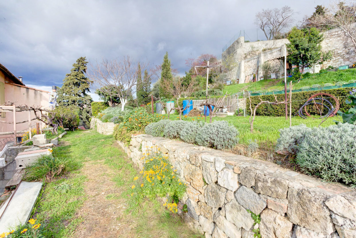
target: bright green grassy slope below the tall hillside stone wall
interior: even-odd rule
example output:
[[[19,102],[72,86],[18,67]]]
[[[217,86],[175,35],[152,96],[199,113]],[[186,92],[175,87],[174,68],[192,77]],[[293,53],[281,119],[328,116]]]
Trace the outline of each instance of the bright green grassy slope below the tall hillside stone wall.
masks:
[[[299,89],[304,86],[312,86],[313,84],[323,85],[325,83],[335,84],[339,81],[352,81],[356,79],[356,69],[347,69],[347,70],[339,70],[336,72],[327,72],[323,74],[313,74],[312,77],[300,80],[299,83],[293,83],[293,89]],[[224,87],[224,92],[227,93],[236,93],[240,92],[242,88],[247,91],[271,91],[273,89],[283,90],[284,85],[280,85],[284,82],[284,79],[268,79],[261,80],[253,83],[245,83],[245,84],[235,84]]]

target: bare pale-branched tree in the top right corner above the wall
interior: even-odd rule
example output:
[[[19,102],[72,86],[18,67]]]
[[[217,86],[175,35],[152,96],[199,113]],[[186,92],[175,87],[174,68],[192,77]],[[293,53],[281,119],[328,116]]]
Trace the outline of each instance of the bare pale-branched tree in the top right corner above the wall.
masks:
[[[329,34],[330,37],[341,37],[346,43],[354,46],[356,52],[356,3],[334,2],[326,9],[325,14],[310,18],[310,23],[320,28],[339,28]]]

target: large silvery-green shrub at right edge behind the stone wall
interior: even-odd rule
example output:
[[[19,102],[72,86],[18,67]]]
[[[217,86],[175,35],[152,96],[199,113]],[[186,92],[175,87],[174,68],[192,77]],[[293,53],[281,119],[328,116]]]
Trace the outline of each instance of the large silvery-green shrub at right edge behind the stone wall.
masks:
[[[356,187],[355,125],[313,128],[300,143],[296,162],[305,173]]]

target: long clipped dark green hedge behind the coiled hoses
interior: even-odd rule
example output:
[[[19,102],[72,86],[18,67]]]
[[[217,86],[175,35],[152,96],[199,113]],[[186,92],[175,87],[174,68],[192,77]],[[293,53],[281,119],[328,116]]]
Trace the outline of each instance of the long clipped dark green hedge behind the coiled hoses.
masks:
[[[318,91],[306,91],[306,92],[292,93],[292,115],[294,115],[295,113],[298,112],[299,108],[301,106],[303,106],[303,104],[308,100],[308,98],[310,96],[317,94],[319,92],[324,92],[324,93],[334,95],[335,97],[340,97],[339,98],[340,110],[342,112],[346,112],[347,110],[349,110],[350,106],[345,104],[346,97],[344,97],[344,96],[349,96],[350,95],[349,92],[351,90],[352,90],[352,88],[338,88],[338,89],[329,89],[329,90],[318,90]],[[284,94],[278,94],[276,96],[277,96],[278,101],[284,101]],[[251,96],[252,110],[260,102],[260,99],[262,99],[262,101],[267,101],[267,100],[269,100],[271,102],[275,101],[273,95]],[[333,102],[333,101],[334,100],[331,99],[330,102]],[[326,105],[328,105],[328,104],[326,104]],[[247,99],[246,106],[247,106],[247,113],[250,113],[248,99]],[[308,109],[308,112],[313,113],[312,106],[309,106],[309,107],[310,108]],[[315,114],[318,114],[318,112],[316,110],[314,110],[314,112],[315,112]],[[256,115],[258,115],[258,116],[284,116],[285,113],[286,112],[284,109],[284,104],[279,104],[279,105],[262,104],[256,110]],[[289,104],[288,104],[288,113],[289,113]]]

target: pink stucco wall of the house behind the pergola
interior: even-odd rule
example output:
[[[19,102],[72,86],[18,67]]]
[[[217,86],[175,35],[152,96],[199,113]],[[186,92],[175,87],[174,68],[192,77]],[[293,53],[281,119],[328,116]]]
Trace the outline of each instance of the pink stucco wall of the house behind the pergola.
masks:
[[[48,108],[48,92],[28,88],[26,86],[20,86],[17,84],[5,83],[5,102],[15,102],[16,106],[28,105],[28,106],[42,106],[43,108]],[[35,117],[35,114],[31,112],[31,119]],[[28,112],[16,112],[16,121],[25,121],[28,119]],[[6,117],[1,118],[3,121],[13,121],[12,112],[6,112]],[[36,122],[31,121],[31,125],[36,125]],[[43,124],[44,126],[44,124]],[[17,124],[16,131],[22,131],[28,128],[28,122]],[[14,131],[13,124],[0,123],[0,132],[12,132]]]

